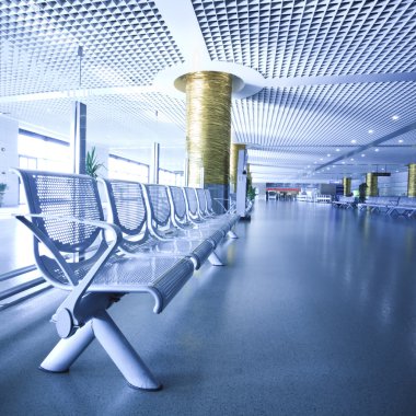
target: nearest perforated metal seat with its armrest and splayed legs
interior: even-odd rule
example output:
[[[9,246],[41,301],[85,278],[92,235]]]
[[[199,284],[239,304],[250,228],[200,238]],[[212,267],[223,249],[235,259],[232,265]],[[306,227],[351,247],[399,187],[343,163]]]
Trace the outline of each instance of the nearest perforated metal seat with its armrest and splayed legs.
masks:
[[[161,384],[113,322],[107,309],[127,293],[150,293],[162,312],[192,277],[187,256],[119,254],[119,227],[104,221],[96,182],[90,176],[16,170],[30,213],[16,218],[34,233],[37,267],[46,280],[67,290],[53,316],[62,338],[42,362],[48,372],[68,371],[96,338],[129,385]],[[142,212],[128,212],[142,221]],[[106,233],[111,234],[109,236]],[[65,256],[69,254],[70,259]]]

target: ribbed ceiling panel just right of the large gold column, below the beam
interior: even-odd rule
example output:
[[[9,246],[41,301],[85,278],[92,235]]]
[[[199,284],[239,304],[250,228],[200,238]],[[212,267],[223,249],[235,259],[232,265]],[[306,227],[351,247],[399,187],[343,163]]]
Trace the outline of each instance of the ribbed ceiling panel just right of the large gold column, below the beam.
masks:
[[[234,137],[266,148],[363,146],[412,123],[415,105],[413,82],[264,89],[233,103]]]

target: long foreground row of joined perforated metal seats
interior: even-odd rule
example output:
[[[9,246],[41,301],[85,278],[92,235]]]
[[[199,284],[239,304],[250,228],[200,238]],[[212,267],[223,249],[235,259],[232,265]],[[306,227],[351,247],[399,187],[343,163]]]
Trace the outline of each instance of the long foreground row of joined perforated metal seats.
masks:
[[[146,292],[155,313],[209,259],[239,217],[216,215],[204,189],[103,181],[111,222],[104,220],[97,182],[85,175],[16,170],[30,213],[16,218],[34,233],[45,279],[69,296],[53,316],[62,338],[41,365],[65,372],[96,338],[130,386],[161,384],[127,342],[107,309],[127,293]]]

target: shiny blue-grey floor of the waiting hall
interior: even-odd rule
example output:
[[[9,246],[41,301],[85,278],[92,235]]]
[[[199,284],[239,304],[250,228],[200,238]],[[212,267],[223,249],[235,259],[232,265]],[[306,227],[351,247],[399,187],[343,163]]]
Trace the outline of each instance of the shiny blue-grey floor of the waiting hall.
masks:
[[[415,415],[416,221],[257,201],[227,267],[204,266],[161,315],[112,315],[164,390],[128,388],[99,345],[68,374],[49,291],[0,312],[1,415]]]

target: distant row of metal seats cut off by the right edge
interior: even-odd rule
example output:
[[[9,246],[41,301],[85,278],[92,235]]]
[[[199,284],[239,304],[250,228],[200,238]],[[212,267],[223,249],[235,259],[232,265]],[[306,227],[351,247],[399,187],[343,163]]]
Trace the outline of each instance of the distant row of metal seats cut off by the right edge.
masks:
[[[357,206],[359,209],[369,208],[371,212],[380,211],[411,218],[416,211],[416,198],[407,196],[369,196],[366,198],[366,203]]]

